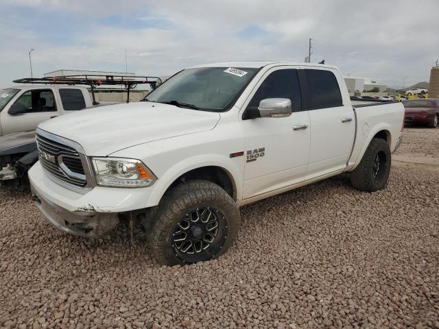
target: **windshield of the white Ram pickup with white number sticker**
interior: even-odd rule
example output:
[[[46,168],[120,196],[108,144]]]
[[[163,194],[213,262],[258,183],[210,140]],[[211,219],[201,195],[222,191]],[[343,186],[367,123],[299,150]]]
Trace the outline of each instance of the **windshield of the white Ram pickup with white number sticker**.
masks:
[[[258,70],[230,67],[186,69],[154,89],[145,101],[177,106],[186,104],[199,110],[223,112],[230,108]]]

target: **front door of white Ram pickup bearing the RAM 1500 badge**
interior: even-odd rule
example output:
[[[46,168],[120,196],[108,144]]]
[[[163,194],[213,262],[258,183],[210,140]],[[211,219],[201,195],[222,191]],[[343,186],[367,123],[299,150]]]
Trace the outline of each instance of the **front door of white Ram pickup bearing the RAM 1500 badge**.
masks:
[[[262,99],[287,98],[289,117],[257,117]],[[278,66],[263,76],[250,95],[241,121],[246,136],[244,199],[289,188],[305,180],[309,158],[309,113],[302,111],[297,66]],[[254,117],[255,114],[250,117]]]

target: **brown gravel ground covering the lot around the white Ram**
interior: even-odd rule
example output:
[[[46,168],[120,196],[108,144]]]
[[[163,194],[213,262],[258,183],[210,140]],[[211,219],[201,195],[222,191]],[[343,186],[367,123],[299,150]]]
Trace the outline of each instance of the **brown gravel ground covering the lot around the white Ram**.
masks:
[[[439,156],[430,131],[399,154]],[[69,236],[0,192],[0,326],[439,328],[438,182],[395,166],[377,193],[342,175],[265,199],[227,254],[186,267],[158,265],[138,228]]]

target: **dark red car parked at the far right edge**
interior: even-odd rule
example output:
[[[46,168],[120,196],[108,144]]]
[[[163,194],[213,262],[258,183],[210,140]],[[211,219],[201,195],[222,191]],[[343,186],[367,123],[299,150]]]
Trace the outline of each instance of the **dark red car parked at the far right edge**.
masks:
[[[437,127],[439,121],[439,99],[409,99],[404,102],[405,123],[418,123]]]

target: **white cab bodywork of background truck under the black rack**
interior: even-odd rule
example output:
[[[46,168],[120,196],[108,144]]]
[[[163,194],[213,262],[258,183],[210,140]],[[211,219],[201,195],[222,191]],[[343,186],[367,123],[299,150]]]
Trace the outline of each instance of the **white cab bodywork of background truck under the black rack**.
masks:
[[[76,112],[76,111],[66,111],[62,107],[60,88],[62,89],[79,89],[84,96],[86,107],[92,106],[93,101],[91,100],[90,94],[85,87],[82,86],[62,86],[62,85],[45,85],[45,84],[35,84],[31,86],[12,86],[11,89],[19,89],[20,91],[12,97],[9,103],[0,112],[0,132],[3,135],[12,134],[14,132],[26,132],[28,130],[35,130],[39,123],[47,121],[53,117],[60,117],[61,115]],[[34,112],[25,114],[11,115],[8,110],[15,103],[17,99],[21,97],[24,93],[29,90],[45,89],[51,90],[54,93],[54,101],[56,103],[56,111],[51,112]],[[1,135],[0,135],[1,136]]]

